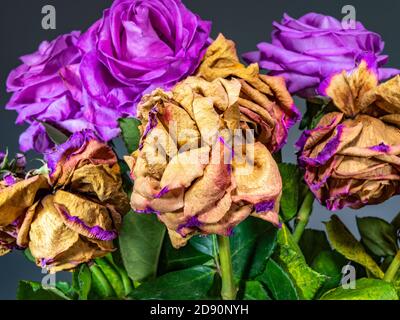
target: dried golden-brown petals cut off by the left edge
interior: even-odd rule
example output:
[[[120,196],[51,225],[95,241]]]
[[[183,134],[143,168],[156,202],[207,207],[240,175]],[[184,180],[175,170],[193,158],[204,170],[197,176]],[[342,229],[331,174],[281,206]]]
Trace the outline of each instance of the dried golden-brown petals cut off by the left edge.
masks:
[[[47,178],[41,175],[26,180],[6,175],[0,182],[0,255],[27,246],[32,208],[49,189]]]

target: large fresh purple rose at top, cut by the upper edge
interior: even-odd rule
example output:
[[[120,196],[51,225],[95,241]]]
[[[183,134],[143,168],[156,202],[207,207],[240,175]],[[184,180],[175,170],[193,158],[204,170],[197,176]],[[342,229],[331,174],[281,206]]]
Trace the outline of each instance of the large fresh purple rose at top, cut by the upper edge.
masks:
[[[114,1],[79,42],[87,117],[116,127],[119,117],[136,114],[144,93],[191,75],[210,28],[180,0]]]

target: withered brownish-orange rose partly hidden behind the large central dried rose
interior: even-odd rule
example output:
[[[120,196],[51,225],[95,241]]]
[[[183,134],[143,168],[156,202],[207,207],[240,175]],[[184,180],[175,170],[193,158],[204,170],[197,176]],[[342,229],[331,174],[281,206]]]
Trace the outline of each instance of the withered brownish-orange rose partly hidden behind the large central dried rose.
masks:
[[[245,67],[239,61],[235,43],[222,34],[208,48],[197,75],[208,81],[238,79],[241,127],[254,129],[256,139],[273,153],[283,147],[289,129],[300,118],[284,78],[260,74],[256,63]]]

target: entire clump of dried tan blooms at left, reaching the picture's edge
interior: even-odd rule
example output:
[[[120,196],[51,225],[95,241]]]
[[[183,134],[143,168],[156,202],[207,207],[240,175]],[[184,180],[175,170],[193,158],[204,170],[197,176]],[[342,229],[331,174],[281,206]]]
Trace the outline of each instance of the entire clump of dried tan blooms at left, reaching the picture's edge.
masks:
[[[115,154],[91,131],[73,134],[47,160],[50,176],[0,188],[0,241],[2,253],[29,247],[39,266],[57,272],[113,251],[129,200]]]

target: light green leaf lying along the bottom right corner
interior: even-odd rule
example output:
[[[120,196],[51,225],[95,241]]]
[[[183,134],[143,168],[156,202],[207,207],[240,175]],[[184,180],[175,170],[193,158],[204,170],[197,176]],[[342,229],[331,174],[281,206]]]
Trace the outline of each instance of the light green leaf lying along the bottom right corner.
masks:
[[[321,300],[398,300],[396,289],[386,281],[359,279],[355,289],[339,287],[328,291]]]

